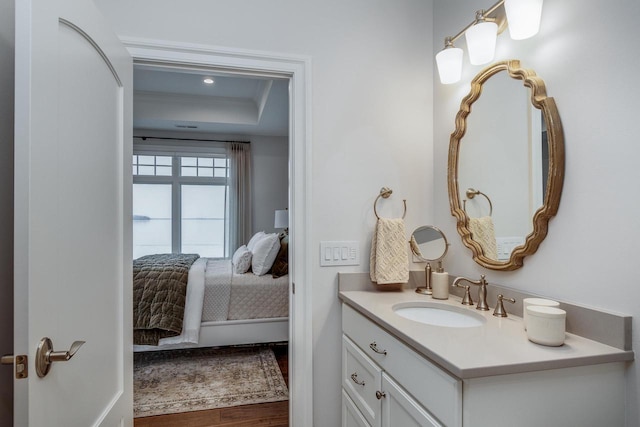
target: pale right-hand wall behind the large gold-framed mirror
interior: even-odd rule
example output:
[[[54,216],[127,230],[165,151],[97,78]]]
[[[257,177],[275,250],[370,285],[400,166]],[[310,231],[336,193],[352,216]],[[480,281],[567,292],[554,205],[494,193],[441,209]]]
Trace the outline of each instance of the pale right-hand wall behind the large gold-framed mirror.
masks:
[[[481,0],[436,1],[434,49],[462,29]],[[434,81],[435,205],[437,224],[453,242],[447,256],[457,275],[487,275],[489,282],[634,316],[633,347],[640,349],[640,241],[637,138],[640,86],[640,2],[547,0],[533,39],[498,39],[496,60],[519,59],[532,68],[557,102],[564,126],[565,182],[558,215],[538,252],[514,272],[476,265],[457,237],[446,187],[447,146],[460,100],[480,66],[465,64],[463,82]],[[460,47],[466,48],[464,42]],[[637,363],[628,369],[627,426],[640,425]]]

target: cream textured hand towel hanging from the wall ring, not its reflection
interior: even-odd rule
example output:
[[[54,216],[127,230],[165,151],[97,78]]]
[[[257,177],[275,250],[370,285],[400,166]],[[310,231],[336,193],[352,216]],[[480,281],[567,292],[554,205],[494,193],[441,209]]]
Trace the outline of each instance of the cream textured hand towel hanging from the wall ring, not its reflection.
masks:
[[[409,281],[409,255],[403,219],[378,219],[369,261],[372,282],[384,285]]]

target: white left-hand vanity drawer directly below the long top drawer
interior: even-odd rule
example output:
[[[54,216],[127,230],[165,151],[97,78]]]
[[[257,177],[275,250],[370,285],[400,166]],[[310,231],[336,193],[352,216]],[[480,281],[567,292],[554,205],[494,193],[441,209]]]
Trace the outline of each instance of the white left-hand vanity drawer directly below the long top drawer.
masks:
[[[382,370],[349,338],[342,336],[342,387],[372,427],[380,426]]]

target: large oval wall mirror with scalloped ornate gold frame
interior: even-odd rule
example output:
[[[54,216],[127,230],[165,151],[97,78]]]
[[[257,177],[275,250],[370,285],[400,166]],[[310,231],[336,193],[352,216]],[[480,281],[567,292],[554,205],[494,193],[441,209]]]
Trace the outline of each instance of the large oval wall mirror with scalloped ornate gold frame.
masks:
[[[448,163],[451,214],[473,259],[522,267],[547,235],[563,181],[562,124],[544,81],[517,60],[481,71],[456,115]]]

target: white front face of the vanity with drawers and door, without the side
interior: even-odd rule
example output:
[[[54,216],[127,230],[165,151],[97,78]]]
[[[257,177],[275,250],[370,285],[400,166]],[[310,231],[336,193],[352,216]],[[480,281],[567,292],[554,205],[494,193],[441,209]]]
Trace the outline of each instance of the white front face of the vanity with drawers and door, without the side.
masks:
[[[343,305],[343,427],[461,426],[462,382]]]

